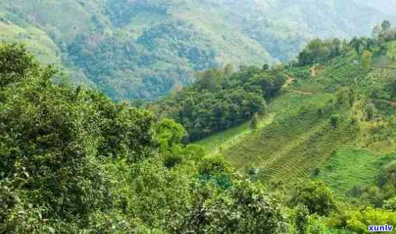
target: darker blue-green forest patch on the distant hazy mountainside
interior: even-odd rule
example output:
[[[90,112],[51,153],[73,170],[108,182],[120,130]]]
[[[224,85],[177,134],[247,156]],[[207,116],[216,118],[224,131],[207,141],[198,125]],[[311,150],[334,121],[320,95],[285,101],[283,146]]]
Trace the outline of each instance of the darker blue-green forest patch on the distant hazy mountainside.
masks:
[[[178,83],[189,83],[193,69],[218,65],[212,46],[183,21],[159,24],[136,40],[79,34],[66,49],[87,78],[118,100],[160,97]],[[181,65],[171,66],[175,63]]]

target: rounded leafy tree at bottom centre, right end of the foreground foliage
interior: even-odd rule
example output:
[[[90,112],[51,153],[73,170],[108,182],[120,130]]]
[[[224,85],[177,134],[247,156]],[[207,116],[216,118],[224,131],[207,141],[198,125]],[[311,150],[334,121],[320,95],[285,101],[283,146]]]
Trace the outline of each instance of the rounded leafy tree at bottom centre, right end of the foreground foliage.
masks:
[[[208,187],[208,186],[207,186]],[[184,233],[285,233],[285,218],[277,201],[261,184],[236,181],[217,193],[209,187],[195,195]]]

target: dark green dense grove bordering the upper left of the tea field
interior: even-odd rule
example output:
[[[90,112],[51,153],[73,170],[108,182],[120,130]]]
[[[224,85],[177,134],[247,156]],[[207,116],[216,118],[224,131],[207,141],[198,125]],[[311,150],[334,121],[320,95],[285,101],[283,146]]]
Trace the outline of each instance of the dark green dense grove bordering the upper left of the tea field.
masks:
[[[197,74],[197,82],[153,106],[160,116],[174,118],[195,141],[264,114],[266,102],[285,83],[282,68],[231,66]]]

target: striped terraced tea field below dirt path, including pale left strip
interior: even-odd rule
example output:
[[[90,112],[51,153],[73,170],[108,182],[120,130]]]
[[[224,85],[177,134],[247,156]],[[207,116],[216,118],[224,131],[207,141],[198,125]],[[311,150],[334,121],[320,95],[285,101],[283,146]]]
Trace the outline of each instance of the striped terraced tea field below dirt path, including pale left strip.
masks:
[[[330,124],[333,113],[344,111],[333,99],[332,94],[285,93],[269,103],[255,134],[245,123],[199,144],[225,156],[237,170],[255,167],[271,180],[302,179],[357,135],[358,126],[346,116],[340,116],[337,126]]]

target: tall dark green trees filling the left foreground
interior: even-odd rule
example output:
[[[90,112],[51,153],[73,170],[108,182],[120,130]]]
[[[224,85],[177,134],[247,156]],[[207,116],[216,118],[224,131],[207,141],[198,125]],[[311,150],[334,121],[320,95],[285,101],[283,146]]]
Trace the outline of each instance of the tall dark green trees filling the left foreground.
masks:
[[[0,76],[12,78],[0,89],[1,232],[84,229],[118,207],[104,162],[153,155],[153,115],[55,83],[57,69],[38,67],[23,47],[1,53]]]

